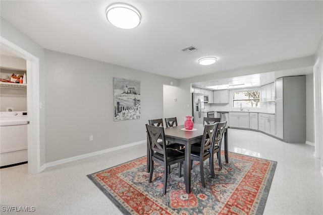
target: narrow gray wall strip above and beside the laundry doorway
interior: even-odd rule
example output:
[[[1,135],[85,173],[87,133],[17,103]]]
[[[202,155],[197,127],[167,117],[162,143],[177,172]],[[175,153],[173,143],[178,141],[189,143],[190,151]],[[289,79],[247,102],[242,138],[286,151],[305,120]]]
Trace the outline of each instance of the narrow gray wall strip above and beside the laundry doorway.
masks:
[[[39,59],[39,99],[43,103],[43,108],[40,109],[39,123],[40,123],[40,165],[45,164],[45,59],[44,49],[35,43],[32,39],[27,37],[15,26],[0,17],[0,32],[1,36],[21,47],[25,51],[38,57]]]

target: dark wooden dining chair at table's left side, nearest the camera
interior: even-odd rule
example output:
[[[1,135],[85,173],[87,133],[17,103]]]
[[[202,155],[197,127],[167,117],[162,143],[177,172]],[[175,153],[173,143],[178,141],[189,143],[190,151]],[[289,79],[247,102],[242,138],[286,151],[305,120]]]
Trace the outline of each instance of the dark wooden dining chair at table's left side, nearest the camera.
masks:
[[[150,150],[150,173],[149,183],[152,180],[153,162],[157,162],[164,167],[164,195],[167,188],[168,168],[172,164],[178,164],[178,177],[182,177],[182,164],[185,160],[185,154],[166,146],[164,127],[157,127],[146,124],[149,150]],[[160,142],[161,140],[161,142]]]

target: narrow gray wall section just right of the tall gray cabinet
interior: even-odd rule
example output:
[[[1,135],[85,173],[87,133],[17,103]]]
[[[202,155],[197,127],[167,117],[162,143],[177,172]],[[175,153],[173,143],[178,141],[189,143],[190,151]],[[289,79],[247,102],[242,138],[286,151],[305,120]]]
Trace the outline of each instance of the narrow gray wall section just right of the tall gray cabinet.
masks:
[[[313,82],[313,74],[306,76],[306,141],[314,143],[314,82]]]

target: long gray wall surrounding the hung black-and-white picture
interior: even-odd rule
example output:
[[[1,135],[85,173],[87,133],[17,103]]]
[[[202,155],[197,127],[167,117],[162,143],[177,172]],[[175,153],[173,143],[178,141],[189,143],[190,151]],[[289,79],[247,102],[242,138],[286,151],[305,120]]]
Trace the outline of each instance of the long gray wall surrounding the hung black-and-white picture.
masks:
[[[45,50],[46,163],[145,140],[163,117],[163,85],[178,80]],[[113,77],[140,81],[141,119],[114,121]],[[93,135],[93,141],[89,141]]]

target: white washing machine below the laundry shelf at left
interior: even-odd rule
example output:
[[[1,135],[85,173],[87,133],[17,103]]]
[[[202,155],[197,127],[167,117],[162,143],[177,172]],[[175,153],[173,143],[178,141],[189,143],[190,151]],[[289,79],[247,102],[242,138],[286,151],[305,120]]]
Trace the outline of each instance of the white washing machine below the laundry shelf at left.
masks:
[[[27,112],[0,112],[0,167],[28,161]]]

